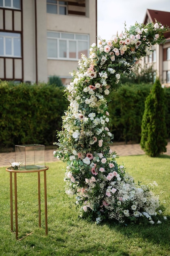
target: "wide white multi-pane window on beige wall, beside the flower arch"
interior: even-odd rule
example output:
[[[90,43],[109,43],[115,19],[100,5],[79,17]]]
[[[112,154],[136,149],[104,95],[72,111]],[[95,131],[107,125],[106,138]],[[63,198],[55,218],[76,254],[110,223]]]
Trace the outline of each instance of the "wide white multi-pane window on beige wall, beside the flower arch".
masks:
[[[89,35],[47,32],[47,55],[53,59],[76,60],[81,54],[87,56]]]

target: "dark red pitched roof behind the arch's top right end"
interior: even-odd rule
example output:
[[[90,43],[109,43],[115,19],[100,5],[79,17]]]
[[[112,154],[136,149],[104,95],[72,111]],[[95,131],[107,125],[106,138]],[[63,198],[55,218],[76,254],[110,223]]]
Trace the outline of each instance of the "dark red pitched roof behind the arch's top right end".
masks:
[[[150,20],[150,22],[155,22],[157,20],[158,22],[161,22],[162,25],[165,27],[170,27],[170,12],[168,11],[157,11],[157,10],[150,10],[147,9],[146,16],[144,18],[144,24],[147,23],[147,20]],[[166,38],[170,38],[170,32],[166,33],[164,35]]]

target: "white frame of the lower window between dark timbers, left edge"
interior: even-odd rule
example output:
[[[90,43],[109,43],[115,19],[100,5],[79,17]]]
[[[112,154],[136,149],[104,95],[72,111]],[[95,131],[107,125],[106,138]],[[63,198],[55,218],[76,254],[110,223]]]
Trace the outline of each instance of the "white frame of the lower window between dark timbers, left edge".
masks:
[[[3,35],[6,34],[6,35]],[[8,35],[8,34],[12,34],[12,35]],[[19,55],[15,55],[14,54],[14,38],[18,38],[20,39],[20,53],[21,53],[21,34],[19,33],[8,33],[8,32],[0,32],[0,37],[2,37],[3,40],[3,54],[0,54],[0,56],[2,57],[14,57],[14,58],[21,58],[21,54]],[[10,38],[11,39],[11,54],[6,54],[6,43],[5,43],[5,39],[6,38]]]

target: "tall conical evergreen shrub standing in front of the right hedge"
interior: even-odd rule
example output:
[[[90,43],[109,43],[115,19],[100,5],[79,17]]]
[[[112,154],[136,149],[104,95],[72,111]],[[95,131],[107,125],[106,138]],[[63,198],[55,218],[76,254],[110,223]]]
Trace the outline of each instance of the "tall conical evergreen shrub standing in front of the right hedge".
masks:
[[[157,157],[166,152],[166,138],[164,92],[156,79],[145,101],[140,145],[146,155]]]

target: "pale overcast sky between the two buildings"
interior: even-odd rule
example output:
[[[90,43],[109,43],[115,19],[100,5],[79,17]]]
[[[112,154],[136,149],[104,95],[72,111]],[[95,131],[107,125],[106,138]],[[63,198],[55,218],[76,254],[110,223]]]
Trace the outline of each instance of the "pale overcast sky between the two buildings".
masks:
[[[170,0],[97,0],[98,36],[109,40],[131,25],[143,23],[147,9],[170,12]],[[158,20],[159,21],[159,20]]]

